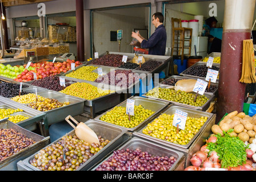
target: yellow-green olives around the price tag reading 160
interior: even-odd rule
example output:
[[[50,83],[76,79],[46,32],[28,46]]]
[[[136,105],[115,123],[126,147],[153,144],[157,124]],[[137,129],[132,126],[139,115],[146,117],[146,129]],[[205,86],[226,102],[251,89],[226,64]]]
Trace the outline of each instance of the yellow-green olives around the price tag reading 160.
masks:
[[[101,121],[113,123],[115,125],[133,128],[139,123],[145,121],[150,115],[154,114],[154,111],[145,109],[142,105],[134,106],[134,115],[126,114],[126,107],[115,106],[106,114],[102,115]]]

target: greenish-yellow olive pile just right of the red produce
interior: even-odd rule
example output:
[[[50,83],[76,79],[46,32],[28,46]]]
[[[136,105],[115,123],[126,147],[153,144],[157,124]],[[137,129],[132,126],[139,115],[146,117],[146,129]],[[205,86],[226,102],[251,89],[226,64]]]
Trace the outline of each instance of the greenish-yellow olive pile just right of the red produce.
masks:
[[[66,76],[81,79],[81,80],[94,81],[98,78],[98,73],[94,73],[92,71],[94,71],[97,68],[98,67],[93,67],[93,66],[82,67],[77,69],[74,72],[67,74]]]

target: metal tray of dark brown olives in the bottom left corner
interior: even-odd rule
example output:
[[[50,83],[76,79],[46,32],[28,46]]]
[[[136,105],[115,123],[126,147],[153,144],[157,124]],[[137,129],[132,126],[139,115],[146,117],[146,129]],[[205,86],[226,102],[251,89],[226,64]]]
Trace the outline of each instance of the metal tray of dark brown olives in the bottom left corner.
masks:
[[[17,162],[19,160],[23,160],[27,158],[27,156],[30,156],[35,151],[41,150],[41,148],[47,146],[49,144],[50,137],[42,137],[41,135],[35,134],[31,131],[28,131],[26,129],[23,129],[21,126],[16,125],[13,122],[10,121],[1,121],[0,122],[0,128],[1,129],[14,129],[15,131],[18,131],[19,133],[25,134],[27,138],[31,138],[35,141],[34,144],[31,144],[30,146],[23,148],[21,151],[9,156],[9,158],[6,158],[0,162],[0,170],[1,171],[17,171]]]

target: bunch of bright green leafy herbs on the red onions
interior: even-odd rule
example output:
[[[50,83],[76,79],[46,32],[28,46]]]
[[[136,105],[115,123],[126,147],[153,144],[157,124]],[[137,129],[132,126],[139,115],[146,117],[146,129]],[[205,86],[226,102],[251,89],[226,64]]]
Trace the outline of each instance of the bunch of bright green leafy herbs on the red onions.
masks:
[[[229,133],[234,131],[230,129],[227,131],[223,131],[224,136],[221,137],[221,134],[217,134],[217,142],[208,143],[207,148],[210,150],[209,154],[212,151],[217,152],[219,156],[219,160],[221,160],[221,167],[237,167],[246,163],[246,148],[245,143],[238,137],[231,137]]]

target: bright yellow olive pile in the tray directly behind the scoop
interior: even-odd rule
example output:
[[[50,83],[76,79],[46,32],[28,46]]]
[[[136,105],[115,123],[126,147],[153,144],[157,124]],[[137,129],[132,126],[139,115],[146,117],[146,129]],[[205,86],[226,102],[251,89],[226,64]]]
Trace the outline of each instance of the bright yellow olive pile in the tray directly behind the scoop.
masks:
[[[64,90],[60,91],[61,93],[68,94],[70,96],[84,98],[86,100],[93,100],[101,96],[105,96],[111,93],[110,90],[102,90],[86,82],[76,82],[67,86]]]

